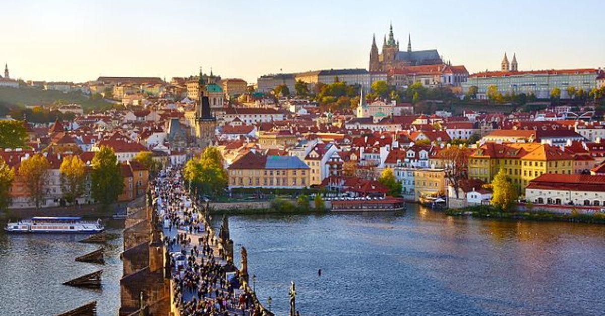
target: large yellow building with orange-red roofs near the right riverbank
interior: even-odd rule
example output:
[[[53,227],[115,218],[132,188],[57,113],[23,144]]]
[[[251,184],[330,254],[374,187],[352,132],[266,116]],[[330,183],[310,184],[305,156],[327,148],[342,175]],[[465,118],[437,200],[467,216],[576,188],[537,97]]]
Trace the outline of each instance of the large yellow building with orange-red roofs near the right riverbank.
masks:
[[[469,178],[491,182],[504,169],[512,182],[523,190],[529,181],[544,173],[572,174],[574,157],[548,144],[485,143],[469,157]]]

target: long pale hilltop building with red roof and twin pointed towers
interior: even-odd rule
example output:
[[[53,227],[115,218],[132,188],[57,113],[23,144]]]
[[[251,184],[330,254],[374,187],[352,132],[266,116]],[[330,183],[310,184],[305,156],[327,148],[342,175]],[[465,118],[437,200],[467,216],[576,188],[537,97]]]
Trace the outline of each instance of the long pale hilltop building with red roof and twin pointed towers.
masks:
[[[468,77],[462,83],[463,92],[468,92],[471,86],[477,86],[477,98],[487,98],[489,86],[496,86],[502,94],[533,94],[537,98],[549,98],[552,89],[561,89],[561,98],[570,98],[567,87],[590,91],[597,87],[599,69],[560,69],[518,71],[517,56],[508,63],[506,54],[500,64],[500,71],[477,73]]]

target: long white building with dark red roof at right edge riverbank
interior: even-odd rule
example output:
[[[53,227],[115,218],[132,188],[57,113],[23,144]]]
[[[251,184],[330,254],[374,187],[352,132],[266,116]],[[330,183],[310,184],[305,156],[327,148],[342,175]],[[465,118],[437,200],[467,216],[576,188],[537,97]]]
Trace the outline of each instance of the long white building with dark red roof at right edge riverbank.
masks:
[[[534,204],[605,205],[605,176],[546,173],[529,182],[525,199]]]

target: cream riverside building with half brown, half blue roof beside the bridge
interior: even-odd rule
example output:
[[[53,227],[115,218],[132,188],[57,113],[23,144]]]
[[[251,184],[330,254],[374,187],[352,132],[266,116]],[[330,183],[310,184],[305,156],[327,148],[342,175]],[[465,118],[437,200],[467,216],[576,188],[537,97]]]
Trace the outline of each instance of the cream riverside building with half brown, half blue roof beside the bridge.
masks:
[[[302,189],[309,185],[309,167],[297,156],[265,156],[250,151],[227,167],[229,189]]]

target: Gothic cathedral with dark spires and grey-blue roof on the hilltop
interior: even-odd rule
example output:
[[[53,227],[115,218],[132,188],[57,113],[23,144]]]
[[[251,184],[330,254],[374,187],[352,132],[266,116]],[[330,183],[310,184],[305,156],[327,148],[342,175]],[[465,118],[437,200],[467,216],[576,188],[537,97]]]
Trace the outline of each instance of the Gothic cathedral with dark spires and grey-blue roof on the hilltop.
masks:
[[[393,25],[390,32],[382,42],[382,53],[378,53],[376,37],[372,37],[370,49],[370,72],[388,71],[390,69],[402,69],[406,66],[442,65],[443,61],[437,50],[412,51],[411,35],[408,37],[407,51],[399,50],[399,40],[393,35]]]

